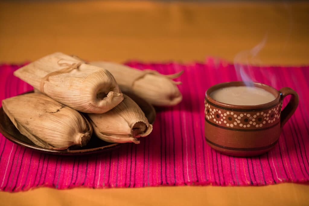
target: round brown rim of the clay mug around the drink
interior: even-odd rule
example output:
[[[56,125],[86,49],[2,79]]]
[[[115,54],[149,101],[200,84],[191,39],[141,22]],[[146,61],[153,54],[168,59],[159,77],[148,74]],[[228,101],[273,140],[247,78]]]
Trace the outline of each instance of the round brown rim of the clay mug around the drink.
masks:
[[[210,94],[220,88],[224,88],[224,87],[229,87],[229,86],[250,86],[250,87],[257,87],[257,88],[261,88],[264,89],[270,93],[272,93],[275,96],[275,99],[271,102],[268,103],[264,103],[264,104],[257,104],[257,105],[234,105],[234,104],[227,104],[227,103],[223,103],[223,102],[219,102],[215,99],[213,99]],[[267,88],[267,89],[265,89]],[[280,103],[280,96],[281,93],[276,90],[275,88],[273,88],[272,86],[269,86],[267,84],[262,84],[260,82],[244,82],[244,81],[234,81],[234,82],[222,82],[219,84],[215,84],[211,87],[209,87],[206,90],[205,93],[205,100],[210,103],[211,105],[215,106],[215,107],[221,107],[222,109],[227,109],[227,110],[238,110],[238,111],[257,111],[257,110],[264,110],[264,109],[268,109],[271,107],[275,107],[278,103]]]

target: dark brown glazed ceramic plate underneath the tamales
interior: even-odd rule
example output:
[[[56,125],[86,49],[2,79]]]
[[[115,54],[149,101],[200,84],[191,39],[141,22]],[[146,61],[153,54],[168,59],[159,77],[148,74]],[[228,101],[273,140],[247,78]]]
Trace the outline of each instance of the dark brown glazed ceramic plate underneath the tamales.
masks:
[[[127,92],[125,94],[131,97],[138,104],[138,106],[141,107],[142,111],[145,113],[150,124],[153,124],[155,121],[155,116],[156,116],[154,107],[150,103],[146,102],[144,99],[141,99],[136,95],[133,95]],[[30,149],[34,149],[39,152],[57,154],[57,155],[80,155],[80,154],[97,153],[97,152],[103,152],[103,151],[113,149],[120,145],[119,143],[109,143],[109,142],[102,141],[95,135],[92,135],[90,141],[84,147],[78,147],[78,148],[70,147],[67,150],[54,150],[54,149],[42,148],[40,146],[35,145],[27,137],[22,135],[18,131],[18,129],[15,128],[14,124],[11,122],[9,117],[5,114],[2,107],[0,108],[0,132],[8,140],[18,145],[21,145],[21,146],[24,146]]]

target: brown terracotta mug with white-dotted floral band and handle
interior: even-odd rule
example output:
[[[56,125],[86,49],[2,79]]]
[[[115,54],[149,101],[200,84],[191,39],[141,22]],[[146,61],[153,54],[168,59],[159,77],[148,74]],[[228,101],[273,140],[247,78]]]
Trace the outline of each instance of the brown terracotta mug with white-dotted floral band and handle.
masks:
[[[260,155],[272,149],[280,136],[281,128],[298,106],[298,94],[289,87],[281,90],[250,83],[269,91],[275,100],[260,105],[231,105],[218,102],[210,94],[223,87],[246,86],[245,82],[225,82],[211,86],[205,96],[205,139],[221,153],[246,157]],[[281,111],[282,101],[291,95],[290,102]]]

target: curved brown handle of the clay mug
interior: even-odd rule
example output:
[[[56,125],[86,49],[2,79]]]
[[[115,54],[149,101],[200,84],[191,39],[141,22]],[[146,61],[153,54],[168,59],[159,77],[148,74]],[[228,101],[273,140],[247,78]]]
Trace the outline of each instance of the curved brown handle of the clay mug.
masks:
[[[280,122],[281,122],[281,128],[282,128],[283,125],[286,124],[286,122],[294,114],[294,112],[295,112],[295,110],[298,106],[299,98],[298,98],[298,94],[296,93],[296,91],[294,91],[290,87],[283,87],[279,91],[280,91],[280,101],[281,101],[281,103],[287,95],[292,95],[290,102],[281,111]]]

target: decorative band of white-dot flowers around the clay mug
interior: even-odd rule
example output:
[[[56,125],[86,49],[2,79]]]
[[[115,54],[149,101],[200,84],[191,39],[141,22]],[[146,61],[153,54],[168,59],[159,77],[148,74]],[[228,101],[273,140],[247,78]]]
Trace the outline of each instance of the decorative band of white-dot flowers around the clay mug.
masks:
[[[214,124],[229,128],[264,128],[280,121],[281,105],[258,112],[227,111],[216,108],[205,100],[205,118]]]

